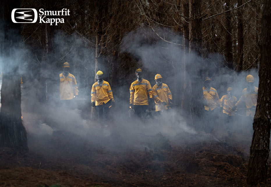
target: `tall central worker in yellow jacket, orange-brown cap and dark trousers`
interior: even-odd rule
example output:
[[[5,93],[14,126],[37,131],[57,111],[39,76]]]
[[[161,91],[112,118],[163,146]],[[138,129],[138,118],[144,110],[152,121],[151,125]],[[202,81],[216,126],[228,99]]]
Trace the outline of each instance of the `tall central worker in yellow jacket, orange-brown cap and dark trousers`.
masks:
[[[130,108],[134,109],[134,113],[142,118],[146,116],[148,105],[152,102],[152,88],[150,82],[143,79],[143,71],[141,68],[137,68],[135,74],[137,80],[132,82],[130,86]]]

